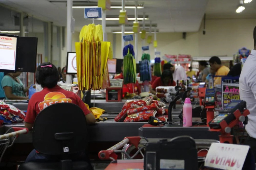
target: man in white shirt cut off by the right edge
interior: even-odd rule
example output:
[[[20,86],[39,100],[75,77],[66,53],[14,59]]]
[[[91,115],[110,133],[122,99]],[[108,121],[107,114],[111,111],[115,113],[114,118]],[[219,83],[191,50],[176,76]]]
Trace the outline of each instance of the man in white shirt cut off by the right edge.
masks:
[[[241,100],[246,101],[248,115],[248,124],[245,130],[248,137],[245,145],[249,145],[254,153],[256,160],[256,27],[253,31],[254,50],[246,59],[239,78],[239,94]]]

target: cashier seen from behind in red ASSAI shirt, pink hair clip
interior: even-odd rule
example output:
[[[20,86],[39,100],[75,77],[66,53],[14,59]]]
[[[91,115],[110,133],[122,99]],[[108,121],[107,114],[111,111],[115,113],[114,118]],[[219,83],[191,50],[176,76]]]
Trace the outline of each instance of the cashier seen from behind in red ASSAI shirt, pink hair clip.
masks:
[[[33,94],[29,100],[27,115],[24,120],[26,128],[32,129],[35,118],[45,107],[63,102],[78,105],[84,112],[87,124],[96,122],[94,115],[85,107],[79,96],[57,85],[59,73],[53,64],[43,63],[38,66],[35,78],[37,83],[43,87],[43,90]]]

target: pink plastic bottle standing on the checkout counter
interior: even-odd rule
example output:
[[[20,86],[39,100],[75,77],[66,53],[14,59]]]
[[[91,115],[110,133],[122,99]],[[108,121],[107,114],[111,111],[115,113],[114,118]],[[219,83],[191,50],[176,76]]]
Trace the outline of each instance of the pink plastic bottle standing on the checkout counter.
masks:
[[[190,98],[186,98],[183,105],[183,126],[192,126],[192,105]]]

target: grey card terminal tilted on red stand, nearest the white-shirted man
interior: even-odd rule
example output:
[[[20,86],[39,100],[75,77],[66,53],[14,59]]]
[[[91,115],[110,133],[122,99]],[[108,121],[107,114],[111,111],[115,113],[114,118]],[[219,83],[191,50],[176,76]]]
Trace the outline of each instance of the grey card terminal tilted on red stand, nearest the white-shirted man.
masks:
[[[219,115],[216,116],[212,121],[209,122],[210,128],[219,129],[221,126],[219,123],[226,121],[227,124],[236,119],[234,112],[239,109],[240,112],[243,112],[246,109],[246,102],[244,100],[233,100],[231,101],[224,109],[219,112]]]

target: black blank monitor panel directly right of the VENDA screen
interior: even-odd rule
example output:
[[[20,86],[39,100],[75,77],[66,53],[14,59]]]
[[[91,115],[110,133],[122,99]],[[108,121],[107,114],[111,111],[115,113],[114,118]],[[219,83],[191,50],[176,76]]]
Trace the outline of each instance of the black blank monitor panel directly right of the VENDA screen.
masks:
[[[37,37],[19,37],[16,71],[34,73],[37,67]]]

